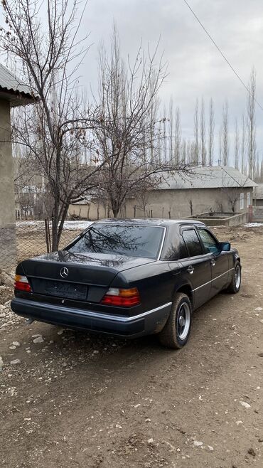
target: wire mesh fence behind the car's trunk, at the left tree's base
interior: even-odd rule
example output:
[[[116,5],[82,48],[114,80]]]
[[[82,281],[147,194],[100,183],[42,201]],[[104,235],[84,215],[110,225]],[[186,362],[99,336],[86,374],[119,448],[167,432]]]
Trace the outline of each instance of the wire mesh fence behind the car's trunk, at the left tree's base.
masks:
[[[15,225],[0,228],[0,270],[14,272],[16,264],[26,258],[35,257],[51,250],[52,220],[18,221]],[[63,249],[82,228],[67,223],[60,237],[59,248]]]

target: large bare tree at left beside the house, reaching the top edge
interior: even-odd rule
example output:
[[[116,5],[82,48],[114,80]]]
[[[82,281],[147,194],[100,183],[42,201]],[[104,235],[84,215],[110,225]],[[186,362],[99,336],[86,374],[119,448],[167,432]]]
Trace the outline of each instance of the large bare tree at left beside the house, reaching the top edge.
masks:
[[[53,200],[52,248],[56,250],[68,206],[96,185],[100,160],[93,157],[90,129],[98,117],[77,95],[77,69],[87,51],[80,40],[77,0],[4,0],[1,49],[20,68],[38,103],[19,110],[14,140],[38,163]],[[84,4],[85,5],[85,4]],[[90,151],[85,164],[83,149]]]

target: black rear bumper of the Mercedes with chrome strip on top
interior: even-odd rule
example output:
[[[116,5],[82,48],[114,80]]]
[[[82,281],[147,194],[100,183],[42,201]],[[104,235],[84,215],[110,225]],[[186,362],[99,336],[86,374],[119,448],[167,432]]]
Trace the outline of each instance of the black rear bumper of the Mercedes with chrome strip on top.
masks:
[[[15,297],[11,309],[22,317],[50,324],[86,329],[125,338],[136,338],[161,331],[171,311],[171,302],[156,309],[149,310],[134,317],[84,311],[70,307],[59,307],[52,304],[28,301]]]

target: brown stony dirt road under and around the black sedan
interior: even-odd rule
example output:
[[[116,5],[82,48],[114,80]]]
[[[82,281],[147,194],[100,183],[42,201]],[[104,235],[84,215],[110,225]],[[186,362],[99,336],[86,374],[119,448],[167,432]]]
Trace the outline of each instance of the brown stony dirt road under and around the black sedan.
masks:
[[[1,467],[263,467],[263,228],[216,233],[242,289],[194,314],[181,351],[0,310]]]

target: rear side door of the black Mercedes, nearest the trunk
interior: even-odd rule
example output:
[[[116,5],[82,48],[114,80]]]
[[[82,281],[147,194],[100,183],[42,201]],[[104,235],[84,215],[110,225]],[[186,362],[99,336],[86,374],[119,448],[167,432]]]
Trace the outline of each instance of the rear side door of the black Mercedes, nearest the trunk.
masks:
[[[183,265],[183,274],[192,284],[194,308],[197,308],[210,298],[211,255],[203,252],[194,226],[181,228],[181,242],[185,252],[181,254],[180,262]]]

